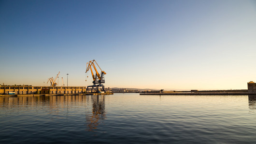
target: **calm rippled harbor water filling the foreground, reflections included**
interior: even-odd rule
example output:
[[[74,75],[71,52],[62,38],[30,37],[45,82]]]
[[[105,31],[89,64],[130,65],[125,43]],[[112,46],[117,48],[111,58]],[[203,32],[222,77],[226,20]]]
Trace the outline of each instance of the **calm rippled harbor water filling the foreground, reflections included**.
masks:
[[[0,97],[0,143],[251,143],[248,96]]]

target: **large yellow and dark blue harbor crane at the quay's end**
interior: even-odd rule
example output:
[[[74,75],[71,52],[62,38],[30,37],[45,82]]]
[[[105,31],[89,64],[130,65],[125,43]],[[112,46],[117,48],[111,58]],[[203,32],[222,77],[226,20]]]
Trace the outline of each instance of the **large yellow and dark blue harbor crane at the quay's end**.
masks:
[[[102,71],[100,69],[100,73],[99,73],[97,68],[96,68],[96,66],[95,66],[95,63],[100,68],[100,66],[98,65],[98,63],[95,60],[91,60],[91,61],[86,63],[86,72],[88,72],[90,70],[91,74],[92,74],[92,78],[93,78],[93,82],[92,82],[93,85],[87,86],[86,93],[87,93],[87,91],[89,93],[95,92],[95,90],[94,90],[95,87],[97,88],[96,93],[100,93],[100,87],[102,87],[102,91],[101,92],[105,93],[105,88],[104,88],[103,83],[105,83],[104,74],[106,74],[106,72],[104,72],[104,71]],[[93,72],[93,69],[96,72],[95,74]]]

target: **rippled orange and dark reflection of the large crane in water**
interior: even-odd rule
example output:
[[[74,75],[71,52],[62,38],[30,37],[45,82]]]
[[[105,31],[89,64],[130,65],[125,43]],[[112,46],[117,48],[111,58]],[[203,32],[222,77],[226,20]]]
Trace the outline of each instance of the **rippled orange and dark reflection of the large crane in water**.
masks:
[[[88,96],[89,98],[89,96]],[[98,125],[105,119],[105,96],[91,96],[92,109],[85,111],[85,131],[94,132]],[[87,107],[86,107],[87,108]]]

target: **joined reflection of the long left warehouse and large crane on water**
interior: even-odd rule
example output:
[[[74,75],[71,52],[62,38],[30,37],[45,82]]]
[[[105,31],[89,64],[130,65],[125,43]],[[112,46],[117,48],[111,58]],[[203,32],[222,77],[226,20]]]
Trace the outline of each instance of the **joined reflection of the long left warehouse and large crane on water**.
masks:
[[[86,131],[95,131],[97,126],[105,119],[105,97],[104,96],[18,96],[0,97],[0,107],[47,107],[51,115],[59,114],[63,111],[69,113],[74,105],[85,106]],[[60,111],[63,108],[63,111]]]

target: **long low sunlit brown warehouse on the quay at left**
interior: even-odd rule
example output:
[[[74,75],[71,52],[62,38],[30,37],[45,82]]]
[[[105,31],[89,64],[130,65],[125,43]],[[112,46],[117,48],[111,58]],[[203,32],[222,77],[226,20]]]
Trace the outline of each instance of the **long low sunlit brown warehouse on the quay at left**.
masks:
[[[84,94],[83,86],[0,86],[0,95]]]

